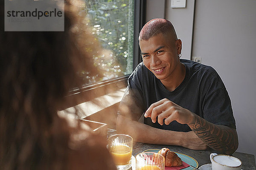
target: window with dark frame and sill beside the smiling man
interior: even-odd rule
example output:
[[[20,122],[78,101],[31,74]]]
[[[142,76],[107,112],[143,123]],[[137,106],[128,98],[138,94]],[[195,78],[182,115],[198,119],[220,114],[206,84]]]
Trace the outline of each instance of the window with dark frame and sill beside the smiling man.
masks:
[[[109,93],[113,86],[124,88],[128,76],[142,61],[138,35],[144,24],[145,0],[84,0],[87,20],[93,34],[105,49],[104,55],[93,56],[94,64],[104,70],[102,77],[84,73],[84,87],[73,89],[68,96],[71,107]],[[111,86],[112,88],[108,88]],[[107,90],[106,90],[107,89]],[[88,93],[86,101],[73,102],[79,93]],[[93,94],[93,95],[91,95]],[[76,100],[74,100],[76,101]]]

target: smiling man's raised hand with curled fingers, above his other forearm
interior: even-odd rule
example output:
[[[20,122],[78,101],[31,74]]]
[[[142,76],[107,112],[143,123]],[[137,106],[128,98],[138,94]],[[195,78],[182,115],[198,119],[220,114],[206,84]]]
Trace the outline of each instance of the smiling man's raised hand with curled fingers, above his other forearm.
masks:
[[[191,111],[176,105],[169,99],[162,99],[158,102],[153,103],[148,110],[145,112],[145,117],[150,117],[152,122],[158,122],[160,125],[164,123],[169,125],[172,121],[176,120],[181,124],[189,124],[193,119]],[[156,119],[158,116],[158,119]]]

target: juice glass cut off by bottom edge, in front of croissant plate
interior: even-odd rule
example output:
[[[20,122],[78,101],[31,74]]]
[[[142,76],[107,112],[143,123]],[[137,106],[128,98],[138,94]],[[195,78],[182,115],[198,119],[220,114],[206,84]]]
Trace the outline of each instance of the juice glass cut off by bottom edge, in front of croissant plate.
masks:
[[[165,158],[154,152],[143,152],[136,156],[136,170],[164,170]]]

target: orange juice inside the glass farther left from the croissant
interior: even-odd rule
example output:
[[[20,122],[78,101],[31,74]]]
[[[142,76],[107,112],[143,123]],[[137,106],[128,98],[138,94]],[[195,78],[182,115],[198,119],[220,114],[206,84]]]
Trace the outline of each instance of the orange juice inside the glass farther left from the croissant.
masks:
[[[116,165],[126,165],[131,160],[132,149],[126,145],[114,145],[110,148],[110,152]]]

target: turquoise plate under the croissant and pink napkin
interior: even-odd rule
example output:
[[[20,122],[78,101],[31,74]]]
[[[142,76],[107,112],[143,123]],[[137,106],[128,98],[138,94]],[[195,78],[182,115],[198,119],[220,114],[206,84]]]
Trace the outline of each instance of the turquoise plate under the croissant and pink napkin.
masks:
[[[143,152],[155,152],[155,153],[158,153],[160,149],[148,149],[148,150],[144,150]],[[183,154],[183,153],[178,153],[178,152],[175,152],[182,161],[186,162],[187,164],[190,164],[192,165],[193,167],[196,167],[198,168],[198,161],[196,161],[194,158],[192,158],[191,156],[188,156],[186,154]],[[186,167],[182,170],[195,170],[194,168],[192,167]]]

